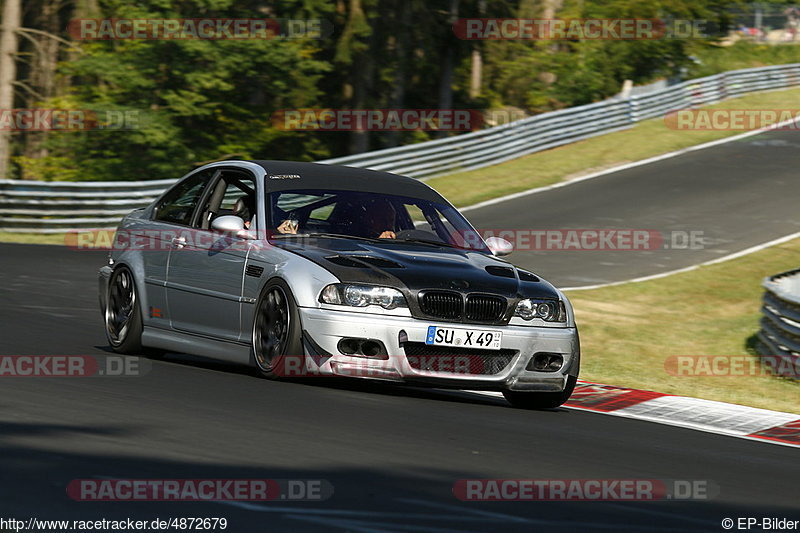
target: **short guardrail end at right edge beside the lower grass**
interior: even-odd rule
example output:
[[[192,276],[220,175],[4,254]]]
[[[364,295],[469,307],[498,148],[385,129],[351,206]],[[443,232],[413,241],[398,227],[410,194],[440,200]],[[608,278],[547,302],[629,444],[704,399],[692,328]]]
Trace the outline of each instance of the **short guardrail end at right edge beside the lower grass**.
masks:
[[[800,376],[800,268],[768,277],[762,283],[764,305],[758,354],[778,374]],[[783,370],[783,371],[781,371]]]

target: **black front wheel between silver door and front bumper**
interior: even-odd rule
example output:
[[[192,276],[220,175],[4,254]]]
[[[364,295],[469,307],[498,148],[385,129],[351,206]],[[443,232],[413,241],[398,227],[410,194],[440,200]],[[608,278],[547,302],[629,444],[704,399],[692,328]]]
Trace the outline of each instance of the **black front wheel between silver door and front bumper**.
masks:
[[[305,373],[302,331],[289,286],[280,279],[267,282],[253,321],[253,358],[261,376],[279,380]]]

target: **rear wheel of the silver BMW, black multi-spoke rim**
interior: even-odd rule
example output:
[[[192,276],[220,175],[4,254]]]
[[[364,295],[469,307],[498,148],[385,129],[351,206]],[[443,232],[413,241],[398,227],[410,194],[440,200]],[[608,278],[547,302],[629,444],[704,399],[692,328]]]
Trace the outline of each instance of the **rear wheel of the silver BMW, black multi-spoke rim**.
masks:
[[[122,354],[141,353],[142,311],[133,273],[127,267],[119,267],[111,274],[104,315],[111,349]]]

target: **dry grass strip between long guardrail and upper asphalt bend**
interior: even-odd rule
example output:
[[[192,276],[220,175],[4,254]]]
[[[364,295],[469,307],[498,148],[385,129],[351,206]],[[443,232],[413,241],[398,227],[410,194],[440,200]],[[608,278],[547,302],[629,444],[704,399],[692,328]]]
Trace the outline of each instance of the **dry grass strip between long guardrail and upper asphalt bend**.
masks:
[[[706,109],[784,108],[800,108],[800,89],[751,94]],[[663,118],[655,118],[640,122],[628,130],[538,152],[500,165],[432,178],[427,183],[454,205],[463,207],[740,133],[674,130],[664,124]],[[469,187],[464,187],[465,183],[469,183]]]

